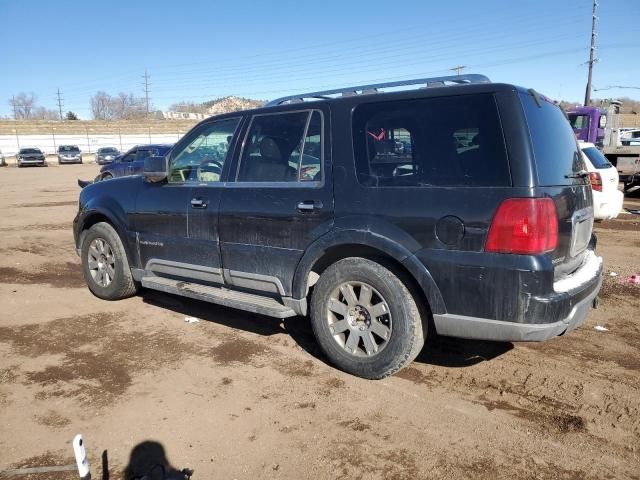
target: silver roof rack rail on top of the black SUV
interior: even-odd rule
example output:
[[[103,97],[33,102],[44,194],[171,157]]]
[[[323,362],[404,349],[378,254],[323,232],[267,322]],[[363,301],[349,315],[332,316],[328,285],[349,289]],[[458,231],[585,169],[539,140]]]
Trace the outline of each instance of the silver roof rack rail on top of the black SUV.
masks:
[[[299,103],[304,102],[305,99],[313,100],[329,100],[331,95],[341,95],[343,97],[351,97],[354,95],[365,95],[371,93],[380,93],[383,88],[392,87],[404,87],[409,85],[423,85],[422,88],[444,87],[447,84],[464,85],[469,83],[490,83],[488,77],[475,73],[466,75],[451,75],[447,77],[431,77],[431,78],[416,78],[413,80],[398,80],[395,82],[386,83],[372,83],[370,85],[357,85],[354,87],[336,88],[334,90],[323,90],[319,92],[302,93],[298,95],[290,95],[287,97],[277,98],[271,100],[266,104],[267,107],[273,107],[276,105],[283,105],[286,103]]]

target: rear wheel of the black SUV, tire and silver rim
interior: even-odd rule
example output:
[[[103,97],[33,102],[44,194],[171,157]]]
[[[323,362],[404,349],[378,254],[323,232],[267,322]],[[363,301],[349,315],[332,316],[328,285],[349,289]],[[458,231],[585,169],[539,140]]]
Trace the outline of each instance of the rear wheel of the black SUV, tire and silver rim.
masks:
[[[351,301],[342,293],[349,286]],[[359,377],[384,378],[411,363],[424,346],[423,320],[407,285],[372,260],[340,260],[314,286],[311,326],[316,340],[333,365]]]

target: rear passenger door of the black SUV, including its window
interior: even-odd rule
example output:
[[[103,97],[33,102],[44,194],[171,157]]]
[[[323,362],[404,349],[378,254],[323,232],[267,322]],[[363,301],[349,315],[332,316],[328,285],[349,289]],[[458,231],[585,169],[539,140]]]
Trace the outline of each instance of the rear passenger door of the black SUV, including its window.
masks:
[[[254,115],[220,204],[225,283],[289,296],[305,249],[333,224],[329,110]]]

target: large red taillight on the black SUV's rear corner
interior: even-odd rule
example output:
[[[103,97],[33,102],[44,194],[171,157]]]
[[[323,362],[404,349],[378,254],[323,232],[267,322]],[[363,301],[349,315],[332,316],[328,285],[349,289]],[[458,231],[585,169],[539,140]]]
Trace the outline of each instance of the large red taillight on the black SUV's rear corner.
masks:
[[[485,250],[536,254],[558,245],[558,216],[551,198],[510,198],[493,217]]]

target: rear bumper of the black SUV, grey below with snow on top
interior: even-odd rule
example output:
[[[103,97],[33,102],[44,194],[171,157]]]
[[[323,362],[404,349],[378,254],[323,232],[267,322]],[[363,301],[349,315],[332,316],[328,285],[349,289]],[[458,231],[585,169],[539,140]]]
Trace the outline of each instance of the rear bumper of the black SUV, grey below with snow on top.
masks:
[[[569,277],[556,282],[548,298],[532,299],[531,307],[540,316],[527,315],[515,322],[456,314],[434,314],[440,335],[476,340],[540,342],[570,332],[584,323],[602,285],[602,259],[589,252],[585,263]],[[546,304],[546,305],[545,305]],[[544,308],[540,308],[544,306]],[[561,319],[545,313],[569,308]]]

